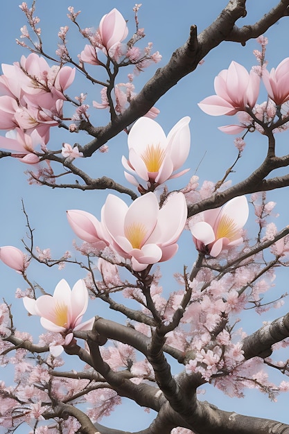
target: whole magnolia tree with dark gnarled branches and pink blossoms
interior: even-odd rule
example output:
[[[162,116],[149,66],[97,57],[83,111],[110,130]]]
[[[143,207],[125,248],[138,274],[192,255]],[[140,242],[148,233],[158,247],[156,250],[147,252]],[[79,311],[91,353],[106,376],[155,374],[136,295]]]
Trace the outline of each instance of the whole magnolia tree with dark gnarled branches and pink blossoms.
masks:
[[[1,426],[7,433],[24,426],[24,432],[35,434],[129,433],[129,421],[131,431],[110,428],[110,419],[101,421],[126,398],[154,410],[152,422],[139,434],[289,433],[282,421],[232,413],[198,397],[202,388],[207,399],[211,388],[229,397],[256,388],[275,400],[289,390],[286,355],[282,361],[275,357],[289,344],[289,313],[275,314],[277,319],[253,333],[246,330],[244,313],[265,313],[285,297],[272,295],[263,302],[274,286],[276,268],[289,264],[289,228],[277,229],[268,220],[275,204],[265,193],[289,185],[282,171],[289,156],[275,152],[277,132],[286,134],[289,125],[289,58],[268,69],[263,34],[289,15],[289,0],[276,1],[259,21],[245,26],[240,21],[247,13],[245,0],[230,0],[202,33],[195,26],[188,29],[189,39],[137,94],[135,76],[161,60],[151,43],[143,44],[140,7],[136,4],[131,12],[134,30],[116,8],[99,17],[96,28],[86,28],[80,11],[69,7],[82,51],[69,46],[69,26],[63,26],[53,54],[42,42],[35,1],[20,5],[28,26],[21,28],[17,43],[26,53],[19,62],[2,64],[1,163],[16,159],[15,171],[19,162],[29,164],[28,180],[42,186],[43,196],[47,186],[63,194],[93,190],[85,194],[94,194],[97,217],[85,207],[67,210],[75,250],[53,259],[49,248],[36,246],[35,223],[24,204],[28,233],[23,245],[0,248],[1,261],[25,281],[15,303],[21,304],[17,315],[20,309],[26,318],[23,329],[15,327],[14,304],[3,294],[0,360],[6,371],[14,370],[14,379],[0,382]],[[236,60],[229,65],[219,61],[216,94],[209,96],[204,88],[199,103],[211,116],[236,115],[233,123],[220,127],[222,133],[235,134],[236,161],[227,163],[218,182],[190,175],[189,184],[179,184],[186,175],[175,178],[191,165],[190,117],[177,119],[166,134],[155,120],[159,110],[154,105],[178,80],[202,68],[204,56],[221,42],[245,46],[252,38],[259,48],[251,71]],[[123,70],[125,83],[119,82]],[[77,74],[95,85],[93,95],[82,89],[78,96],[69,93]],[[92,121],[100,109],[110,116],[102,127]],[[51,143],[55,127],[65,132],[67,142]],[[120,132],[123,184],[107,176],[109,166],[107,175],[91,177],[82,162],[99,150],[101,163],[107,143]],[[245,148],[249,132],[263,137],[266,153],[259,167],[230,184],[227,178],[243,153],[254,153]],[[86,144],[80,146],[81,140]],[[99,190],[107,191],[103,202]],[[57,214],[53,209],[53,218]],[[250,220],[257,222],[252,236],[246,230]],[[189,241],[180,257],[183,231]],[[171,270],[173,257],[184,266]],[[35,282],[35,264],[49,273],[64,268],[55,288]],[[72,288],[65,275],[69,267],[78,273]],[[175,289],[169,294],[161,282]],[[102,318],[101,306],[114,314]],[[33,320],[37,331],[31,335],[25,327]]]

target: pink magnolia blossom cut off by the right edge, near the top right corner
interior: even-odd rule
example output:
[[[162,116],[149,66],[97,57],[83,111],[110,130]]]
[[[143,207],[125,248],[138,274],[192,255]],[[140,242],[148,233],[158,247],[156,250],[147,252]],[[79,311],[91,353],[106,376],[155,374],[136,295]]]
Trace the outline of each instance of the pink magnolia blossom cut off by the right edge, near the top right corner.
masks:
[[[263,83],[270,98],[277,105],[289,100],[289,58],[282,60],[276,70],[263,70]]]

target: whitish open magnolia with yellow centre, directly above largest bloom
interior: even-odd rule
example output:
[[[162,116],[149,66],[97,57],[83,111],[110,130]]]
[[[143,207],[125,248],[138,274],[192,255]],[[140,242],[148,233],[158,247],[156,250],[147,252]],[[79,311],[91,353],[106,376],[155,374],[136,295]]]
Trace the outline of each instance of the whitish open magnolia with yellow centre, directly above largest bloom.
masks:
[[[162,184],[189,169],[173,174],[189,155],[189,116],[185,116],[168,133],[148,117],[140,118],[128,134],[129,158],[122,158],[123,166],[150,184]],[[139,186],[136,178],[125,172],[126,179]]]

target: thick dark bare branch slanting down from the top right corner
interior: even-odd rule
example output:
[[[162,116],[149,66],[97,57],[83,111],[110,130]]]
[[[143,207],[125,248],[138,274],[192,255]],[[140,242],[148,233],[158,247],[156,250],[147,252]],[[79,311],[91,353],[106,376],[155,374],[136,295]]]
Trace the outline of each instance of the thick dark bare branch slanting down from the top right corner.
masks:
[[[238,29],[235,23],[246,15],[245,0],[231,0],[226,8],[222,10],[218,18],[197,37],[197,28],[191,26],[189,39],[177,49],[166,66],[160,68],[141,92],[131,101],[128,110],[116,116],[113,123],[105,127],[94,128],[91,124],[83,122],[80,128],[89,132],[95,137],[89,144],[82,148],[85,157],[89,157],[100,146],[107,143],[112,137],[125,130],[128,125],[143,116],[150,108],[175,86],[177,82],[194,71],[209,51],[226,40],[245,43],[252,37],[257,37],[264,30],[272,26],[280,17],[287,15],[289,0],[282,0],[276,8],[273,8],[253,26],[244,26],[243,30]],[[238,30],[238,31],[237,31]],[[238,35],[238,37],[237,37]]]

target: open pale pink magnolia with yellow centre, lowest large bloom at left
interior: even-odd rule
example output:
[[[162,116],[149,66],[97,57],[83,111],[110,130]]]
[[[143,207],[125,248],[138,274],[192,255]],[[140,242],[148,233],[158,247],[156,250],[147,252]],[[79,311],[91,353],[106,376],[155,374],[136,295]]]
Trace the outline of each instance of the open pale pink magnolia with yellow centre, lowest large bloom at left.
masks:
[[[69,345],[73,338],[73,331],[91,330],[94,318],[81,322],[87,310],[88,293],[85,282],[80,279],[72,290],[66,280],[62,279],[56,285],[53,296],[42,295],[34,300],[29,297],[23,299],[24,307],[31,315],[41,317],[44,329],[55,333],[62,333],[65,345]],[[63,350],[61,345],[51,346],[54,356]]]

